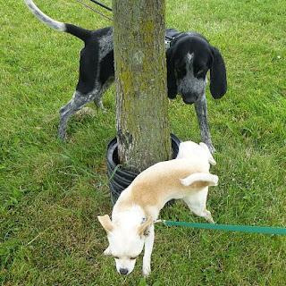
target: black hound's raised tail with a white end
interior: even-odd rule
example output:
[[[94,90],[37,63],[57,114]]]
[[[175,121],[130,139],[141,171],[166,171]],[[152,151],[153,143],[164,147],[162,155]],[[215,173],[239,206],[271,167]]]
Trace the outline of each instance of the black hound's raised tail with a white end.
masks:
[[[48,17],[45,13],[41,12],[32,0],[24,0],[24,2],[28,6],[29,11],[33,13],[38,18],[38,20],[43,22],[46,26],[61,32],[69,33],[77,38],[80,38],[84,42],[88,40],[91,33],[89,29],[83,29],[75,25],[66,24],[61,21],[55,21],[54,19]]]

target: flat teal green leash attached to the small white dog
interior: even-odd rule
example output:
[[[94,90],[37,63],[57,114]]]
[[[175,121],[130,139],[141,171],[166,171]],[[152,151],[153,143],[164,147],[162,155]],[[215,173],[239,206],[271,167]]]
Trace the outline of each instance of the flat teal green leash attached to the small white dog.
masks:
[[[283,234],[286,235],[286,228],[266,227],[266,226],[245,226],[245,225],[227,225],[227,224],[207,224],[207,223],[184,223],[158,220],[156,223],[165,223],[173,226],[186,226],[199,229],[217,230],[217,231],[240,231],[240,232],[256,232],[267,234]]]

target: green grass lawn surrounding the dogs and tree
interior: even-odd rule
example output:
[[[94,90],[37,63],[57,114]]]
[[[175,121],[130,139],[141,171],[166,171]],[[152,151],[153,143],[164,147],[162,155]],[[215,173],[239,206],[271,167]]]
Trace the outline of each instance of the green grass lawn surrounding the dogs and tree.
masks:
[[[110,5],[111,1],[105,1]],[[110,22],[76,1],[38,0],[48,15],[88,29]],[[223,54],[229,88],[207,89],[219,175],[208,208],[217,223],[285,227],[285,1],[166,1],[166,24],[196,30]],[[22,1],[1,9],[1,285],[285,285],[284,236],[156,225],[153,272],[142,257],[116,273],[97,214],[111,214],[106,144],[115,135],[114,87],[105,114],[73,118],[56,139],[58,110],[78,78],[79,39],[48,29]],[[279,58],[281,57],[281,58]],[[90,107],[95,108],[94,105]],[[172,131],[199,141],[193,106],[170,102]],[[204,223],[181,202],[168,220]]]

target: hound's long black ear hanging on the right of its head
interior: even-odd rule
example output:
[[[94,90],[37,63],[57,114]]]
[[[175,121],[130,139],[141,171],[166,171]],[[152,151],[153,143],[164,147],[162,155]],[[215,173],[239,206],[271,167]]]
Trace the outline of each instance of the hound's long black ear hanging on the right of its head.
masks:
[[[221,98],[226,93],[227,81],[226,81],[226,71],[223,62],[223,56],[220,54],[217,48],[212,46],[213,63],[210,68],[211,73],[211,83],[210,89],[212,96],[216,98]]]

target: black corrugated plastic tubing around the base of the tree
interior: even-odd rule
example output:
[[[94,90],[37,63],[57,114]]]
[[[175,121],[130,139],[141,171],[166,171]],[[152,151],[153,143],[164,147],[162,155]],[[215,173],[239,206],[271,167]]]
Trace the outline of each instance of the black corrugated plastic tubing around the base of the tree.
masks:
[[[171,133],[172,140],[172,158],[174,159],[179,152],[181,140]],[[109,189],[113,204],[116,203],[123,189],[126,189],[130,183],[139,175],[139,172],[131,172],[122,169],[118,158],[117,139],[114,138],[107,146],[107,173],[109,178]]]

